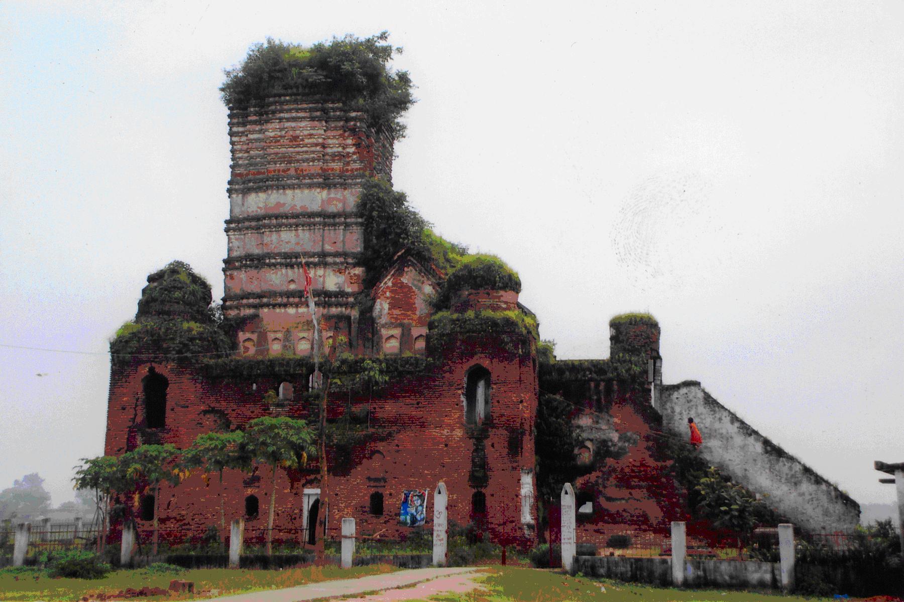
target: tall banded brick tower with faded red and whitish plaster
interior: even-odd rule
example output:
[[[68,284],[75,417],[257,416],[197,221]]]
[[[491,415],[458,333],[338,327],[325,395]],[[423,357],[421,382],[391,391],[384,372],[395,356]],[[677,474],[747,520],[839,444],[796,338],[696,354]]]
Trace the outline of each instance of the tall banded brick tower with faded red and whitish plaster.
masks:
[[[392,135],[327,97],[278,96],[230,110],[232,150],[227,316],[259,316],[240,329],[244,355],[311,353],[313,321],[303,297],[307,265],[323,338],[358,347],[362,291],[363,182],[391,178]]]

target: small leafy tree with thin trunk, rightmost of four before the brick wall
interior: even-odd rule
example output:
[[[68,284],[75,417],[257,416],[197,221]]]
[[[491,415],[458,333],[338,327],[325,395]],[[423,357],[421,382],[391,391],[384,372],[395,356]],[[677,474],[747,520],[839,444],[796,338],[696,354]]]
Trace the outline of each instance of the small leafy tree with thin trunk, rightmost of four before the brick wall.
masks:
[[[277,497],[277,468],[301,468],[315,451],[314,430],[307,422],[292,418],[265,416],[248,423],[245,430],[250,456],[273,471],[270,511],[267,519],[267,553],[272,553],[273,513]]]

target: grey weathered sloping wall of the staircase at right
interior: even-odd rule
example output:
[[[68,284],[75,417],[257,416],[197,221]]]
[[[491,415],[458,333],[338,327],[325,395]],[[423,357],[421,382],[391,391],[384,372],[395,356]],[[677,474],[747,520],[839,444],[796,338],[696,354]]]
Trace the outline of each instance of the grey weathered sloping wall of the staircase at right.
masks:
[[[733,480],[758,494],[794,523],[814,533],[850,533],[860,521],[860,506],[812,468],[717,402],[696,381],[662,387],[656,408],[664,429],[686,439],[687,419],[697,423],[701,453]]]

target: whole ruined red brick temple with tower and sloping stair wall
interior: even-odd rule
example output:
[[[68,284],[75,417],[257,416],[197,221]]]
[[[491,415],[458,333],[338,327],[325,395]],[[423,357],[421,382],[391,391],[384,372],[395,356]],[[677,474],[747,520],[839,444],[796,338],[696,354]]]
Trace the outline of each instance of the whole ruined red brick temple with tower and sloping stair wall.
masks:
[[[333,533],[344,517],[355,519],[359,533],[398,539],[410,529],[400,523],[403,492],[432,492],[443,481],[451,521],[476,523],[494,542],[534,545],[541,536],[535,432],[543,394],[570,403],[579,435],[579,542],[605,542],[625,528],[665,533],[671,521],[688,519],[687,490],[676,482],[664,447],[666,440],[687,439],[688,416],[703,431],[700,454],[751,491],[769,495],[769,504],[796,524],[832,533],[858,522],[859,506],[850,497],[699,383],[663,384],[660,328],[648,316],[589,325],[609,326],[611,359],[544,361],[530,329],[453,329],[438,336],[431,318],[447,278],[443,268],[405,249],[382,273],[368,274],[363,265],[359,197],[373,178],[391,180],[393,134],[353,103],[322,90],[270,95],[231,107],[229,134],[222,311],[237,325],[234,350],[203,361],[146,354],[115,360],[106,454],[148,442],[184,449],[199,434],[242,428],[260,416],[316,421],[319,347],[324,362],[330,353],[373,357],[392,369],[388,382],[339,387],[327,400],[327,421],[351,425],[352,434],[327,449],[326,521],[318,461],[277,471],[275,526],[304,529],[312,541],[324,523]],[[305,269],[315,315],[305,297]],[[365,288],[367,282],[374,283]],[[447,312],[452,319],[532,318],[515,291],[459,291]],[[315,320],[322,326],[319,341]],[[226,516],[266,525],[270,476],[267,466],[251,473],[227,469]],[[162,486],[161,528],[198,533],[219,523],[219,494],[215,480],[200,474]],[[145,500],[138,505],[147,507]],[[139,526],[150,518],[137,516]]]

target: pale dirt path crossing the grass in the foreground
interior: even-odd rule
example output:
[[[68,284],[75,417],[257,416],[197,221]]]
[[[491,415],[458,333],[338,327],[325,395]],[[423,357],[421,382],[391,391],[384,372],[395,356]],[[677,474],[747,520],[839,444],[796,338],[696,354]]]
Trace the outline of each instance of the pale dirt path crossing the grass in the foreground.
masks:
[[[469,591],[477,587],[472,580],[476,567],[460,569],[410,569],[358,579],[339,579],[309,583],[295,588],[255,591],[250,594],[214,598],[217,602],[303,602],[374,593],[355,600],[406,600],[432,596],[445,591]],[[425,582],[426,583],[423,583]],[[416,585],[414,588],[406,586]],[[402,588],[402,589],[399,589]],[[391,590],[391,591],[386,591]],[[346,600],[348,598],[345,598]]]

